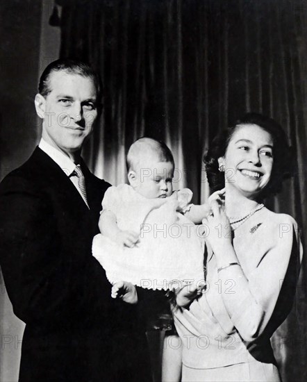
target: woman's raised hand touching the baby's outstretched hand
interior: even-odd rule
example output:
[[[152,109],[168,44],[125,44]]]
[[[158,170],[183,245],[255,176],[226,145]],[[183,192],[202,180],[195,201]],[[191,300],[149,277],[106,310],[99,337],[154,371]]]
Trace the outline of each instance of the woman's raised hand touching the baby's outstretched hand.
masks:
[[[214,199],[210,203],[211,212],[202,221],[207,226],[207,240],[215,252],[221,254],[232,247],[232,234],[229,219],[226,216],[224,206]]]

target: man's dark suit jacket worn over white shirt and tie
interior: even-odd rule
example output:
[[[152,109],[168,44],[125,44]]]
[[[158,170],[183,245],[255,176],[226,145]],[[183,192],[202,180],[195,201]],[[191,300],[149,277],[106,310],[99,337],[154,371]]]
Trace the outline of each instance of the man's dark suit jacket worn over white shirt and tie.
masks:
[[[131,307],[110,298],[111,285],[91,255],[110,185],[81,166],[90,210],[39,148],[0,185],[1,269],[14,312],[26,323],[19,381],[115,381],[116,373],[122,378],[117,355],[138,347],[120,317],[133,321]]]

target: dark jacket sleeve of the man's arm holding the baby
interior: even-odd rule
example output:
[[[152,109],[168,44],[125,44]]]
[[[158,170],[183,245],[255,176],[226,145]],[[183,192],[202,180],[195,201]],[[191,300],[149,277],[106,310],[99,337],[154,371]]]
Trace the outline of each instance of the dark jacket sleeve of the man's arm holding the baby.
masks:
[[[27,180],[8,176],[0,190],[0,261],[8,295],[24,322],[107,315],[110,284],[92,256],[64,254],[51,204]],[[65,214],[65,211],[63,211]]]

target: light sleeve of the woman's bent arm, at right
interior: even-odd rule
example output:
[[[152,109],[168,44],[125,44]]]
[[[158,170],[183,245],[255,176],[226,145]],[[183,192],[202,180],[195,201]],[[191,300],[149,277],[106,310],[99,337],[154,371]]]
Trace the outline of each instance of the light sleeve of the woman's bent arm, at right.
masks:
[[[272,335],[292,308],[302,247],[297,224],[288,215],[284,216],[283,224],[288,229],[281,231],[279,224],[267,232],[274,238],[274,244],[249,273],[247,281],[240,267],[219,272],[219,277],[226,280],[222,284],[234,281],[232,294],[225,290],[222,297],[231,321],[247,342],[255,340],[264,331]]]

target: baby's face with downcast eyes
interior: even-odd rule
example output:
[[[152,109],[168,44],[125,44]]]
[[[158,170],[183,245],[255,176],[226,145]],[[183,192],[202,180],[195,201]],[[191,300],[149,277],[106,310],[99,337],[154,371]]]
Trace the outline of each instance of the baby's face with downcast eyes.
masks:
[[[170,197],[173,192],[174,166],[170,162],[147,163],[138,169],[133,188],[147,199]]]

